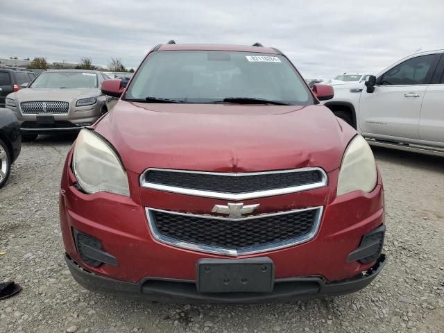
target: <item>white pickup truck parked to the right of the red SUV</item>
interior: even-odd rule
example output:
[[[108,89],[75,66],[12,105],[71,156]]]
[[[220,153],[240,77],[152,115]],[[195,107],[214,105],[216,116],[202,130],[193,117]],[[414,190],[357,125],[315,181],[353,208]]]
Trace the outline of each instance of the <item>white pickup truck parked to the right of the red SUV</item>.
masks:
[[[415,53],[325,102],[370,144],[444,156],[444,49]]]

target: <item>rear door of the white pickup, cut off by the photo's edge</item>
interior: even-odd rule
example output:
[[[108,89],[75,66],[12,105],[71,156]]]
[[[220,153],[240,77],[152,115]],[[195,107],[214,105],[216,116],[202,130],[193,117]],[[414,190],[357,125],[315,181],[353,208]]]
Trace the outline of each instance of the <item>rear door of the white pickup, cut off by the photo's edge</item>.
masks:
[[[444,146],[444,56],[425,91],[418,127],[421,140]]]

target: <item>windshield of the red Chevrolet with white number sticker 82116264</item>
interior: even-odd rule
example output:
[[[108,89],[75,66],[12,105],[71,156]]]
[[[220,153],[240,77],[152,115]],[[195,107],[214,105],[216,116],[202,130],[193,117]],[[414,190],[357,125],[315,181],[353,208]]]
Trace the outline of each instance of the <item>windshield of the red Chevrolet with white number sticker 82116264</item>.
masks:
[[[285,57],[230,51],[151,53],[124,99],[142,101],[147,97],[176,103],[217,103],[243,97],[314,104],[307,85]]]

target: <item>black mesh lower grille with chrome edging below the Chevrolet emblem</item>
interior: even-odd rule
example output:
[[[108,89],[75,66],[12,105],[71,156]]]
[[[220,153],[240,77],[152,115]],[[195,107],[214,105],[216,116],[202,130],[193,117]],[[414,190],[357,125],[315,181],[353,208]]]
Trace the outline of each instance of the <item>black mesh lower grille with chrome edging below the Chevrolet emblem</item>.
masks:
[[[194,248],[198,250],[200,246],[204,252],[228,255],[255,253],[307,241],[314,237],[320,216],[321,207],[244,219],[148,209],[148,221],[157,239],[185,248],[185,244],[196,244]]]

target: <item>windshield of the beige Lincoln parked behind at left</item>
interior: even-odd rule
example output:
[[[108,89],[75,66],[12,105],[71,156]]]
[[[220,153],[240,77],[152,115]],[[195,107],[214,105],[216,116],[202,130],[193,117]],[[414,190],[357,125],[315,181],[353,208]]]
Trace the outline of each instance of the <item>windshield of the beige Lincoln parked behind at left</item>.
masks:
[[[33,88],[87,88],[97,87],[97,76],[94,73],[69,72],[69,71],[47,71],[38,76]]]

